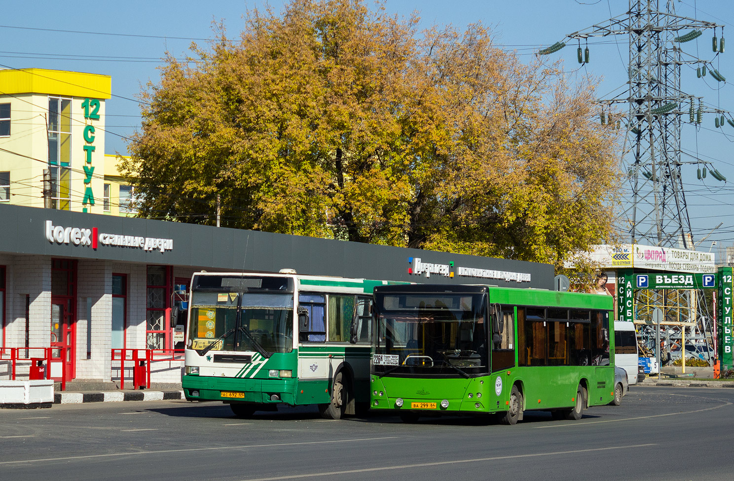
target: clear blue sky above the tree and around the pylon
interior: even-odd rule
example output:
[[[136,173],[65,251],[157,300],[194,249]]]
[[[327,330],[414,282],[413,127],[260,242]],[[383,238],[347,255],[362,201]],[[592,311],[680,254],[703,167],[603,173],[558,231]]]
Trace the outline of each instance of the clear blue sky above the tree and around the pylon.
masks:
[[[729,61],[730,55],[734,55],[734,2],[672,1],[679,15],[727,27],[724,32],[732,37],[727,45],[729,50],[719,60],[719,70],[734,81],[734,65]],[[665,4],[665,0],[660,3]],[[137,95],[148,80],[157,81],[156,67],[164,52],[181,56],[194,39],[211,38],[212,21],[223,20],[234,37],[244,24],[242,15],[247,8],[261,8],[265,4],[253,0],[73,1],[69,4],[4,0],[0,16],[0,65],[112,76],[113,98],[107,102],[106,153],[125,154],[124,137],[139,126]],[[271,0],[269,4],[280,11],[283,1]],[[410,15],[418,10],[426,28],[434,23],[451,23],[461,29],[468,23],[481,21],[495,28],[498,43],[508,49],[517,49],[520,58],[529,59],[534,49],[622,14],[628,9],[628,0],[388,0],[386,9],[399,15]],[[603,43],[596,43],[600,41]],[[619,45],[608,39],[590,42],[591,62],[581,73],[603,78],[600,95],[618,91],[624,84],[626,72],[620,56],[627,59],[627,39],[619,37],[618,41]],[[696,43],[702,57],[713,57],[711,31],[697,42],[685,44],[686,51],[694,52]],[[573,45],[555,56],[565,60],[567,70],[578,68]],[[734,111],[734,85],[713,85],[710,78],[706,84],[691,71],[684,71],[682,78],[686,92],[704,95],[708,104]],[[719,90],[712,87],[719,87]],[[683,149],[713,161],[729,180],[724,185],[709,176],[702,183],[697,180],[695,167],[684,167],[694,241],[700,241],[719,222],[724,222],[701,244],[705,250],[711,246],[711,241],[718,241],[719,247],[734,241],[734,190],[730,188],[734,185],[732,142],[734,128],[726,125],[723,133],[716,131],[713,116],[704,119],[698,132],[689,126],[683,128]]]

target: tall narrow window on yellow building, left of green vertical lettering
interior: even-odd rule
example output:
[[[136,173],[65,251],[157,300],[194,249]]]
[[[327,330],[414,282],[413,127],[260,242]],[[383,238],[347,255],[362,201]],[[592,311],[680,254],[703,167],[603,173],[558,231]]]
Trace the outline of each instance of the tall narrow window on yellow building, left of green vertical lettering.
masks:
[[[48,98],[48,169],[51,207],[71,208],[71,99]]]

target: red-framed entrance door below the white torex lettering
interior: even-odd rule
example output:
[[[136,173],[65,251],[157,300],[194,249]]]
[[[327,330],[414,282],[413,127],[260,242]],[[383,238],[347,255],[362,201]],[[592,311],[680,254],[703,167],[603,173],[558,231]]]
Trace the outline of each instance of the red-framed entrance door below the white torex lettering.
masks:
[[[65,265],[65,266],[64,266]],[[60,319],[59,327],[51,325],[51,347],[64,348],[62,353],[52,351],[51,360],[62,361],[67,381],[76,378],[76,276],[78,262],[68,259],[51,259],[51,322],[53,319],[54,304],[65,306],[65,312]],[[66,273],[65,293],[54,293],[54,272]],[[57,333],[54,333],[54,330]],[[60,335],[59,335],[60,334]],[[55,339],[54,339],[55,337]],[[48,367],[51,369],[51,367]],[[53,370],[51,370],[53,372]],[[61,378],[53,378],[61,381]]]

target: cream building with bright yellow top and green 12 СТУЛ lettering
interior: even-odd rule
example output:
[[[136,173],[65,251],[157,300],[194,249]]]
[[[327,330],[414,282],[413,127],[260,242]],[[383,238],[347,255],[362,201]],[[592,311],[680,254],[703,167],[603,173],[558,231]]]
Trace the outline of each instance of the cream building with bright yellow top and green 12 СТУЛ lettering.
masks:
[[[104,154],[112,78],[0,70],[0,204],[131,215],[131,188]]]

